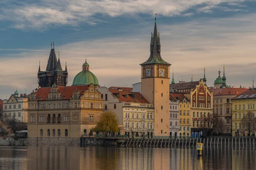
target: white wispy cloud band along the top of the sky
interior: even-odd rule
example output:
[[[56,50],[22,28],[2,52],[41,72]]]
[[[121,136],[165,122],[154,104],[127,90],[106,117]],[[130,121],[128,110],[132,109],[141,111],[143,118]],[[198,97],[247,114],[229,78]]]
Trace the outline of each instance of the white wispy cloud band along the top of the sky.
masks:
[[[241,0],[38,0],[36,4],[12,0],[3,1],[0,20],[11,20],[15,28],[46,29],[48,26],[77,26],[81,22],[100,22],[97,14],[118,17],[158,13],[166,17],[186,15],[195,8],[199,13],[210,13],[222,3],[239,7]],[[15,2],[15,3],[14,3]],[[15,5],[17,4],[17,5]],[[239,10],[239,8],[237,9]],[[191,16],[189,12],[186,16]]]

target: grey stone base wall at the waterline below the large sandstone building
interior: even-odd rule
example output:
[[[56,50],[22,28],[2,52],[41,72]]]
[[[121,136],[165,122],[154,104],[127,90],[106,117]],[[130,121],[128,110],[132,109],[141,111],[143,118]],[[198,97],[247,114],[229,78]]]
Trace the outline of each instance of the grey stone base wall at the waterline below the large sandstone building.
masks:
[[[28,146],[80,146],[80,138],[29,137]]]

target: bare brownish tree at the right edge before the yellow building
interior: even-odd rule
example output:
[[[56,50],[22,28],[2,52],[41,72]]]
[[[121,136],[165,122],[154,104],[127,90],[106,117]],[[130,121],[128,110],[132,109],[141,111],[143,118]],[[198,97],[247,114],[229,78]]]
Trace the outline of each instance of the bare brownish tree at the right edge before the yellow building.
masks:
[[[250,136],[251,132],[256,130],[256,118],[253,112],[247,112],[247,114],[241,120],[241,127],[242,130],[248,132],[248,136]]]

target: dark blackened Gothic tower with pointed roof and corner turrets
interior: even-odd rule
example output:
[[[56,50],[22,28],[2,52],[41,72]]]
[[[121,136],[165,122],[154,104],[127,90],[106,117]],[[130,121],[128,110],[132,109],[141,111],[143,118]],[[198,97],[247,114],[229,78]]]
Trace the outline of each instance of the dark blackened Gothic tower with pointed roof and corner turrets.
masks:
[[[67,85],[67,63],[65,71],[61,68],[60,56],[58,56],[58,61],[56,58],[55,50],[54,50],[54,42],[53,48],[51,49],[46,71],[41,71],[40,63],[38,69],[38,85],[39,87],[46,88],[52,87],[52,85],[56,84],[59,86]]]

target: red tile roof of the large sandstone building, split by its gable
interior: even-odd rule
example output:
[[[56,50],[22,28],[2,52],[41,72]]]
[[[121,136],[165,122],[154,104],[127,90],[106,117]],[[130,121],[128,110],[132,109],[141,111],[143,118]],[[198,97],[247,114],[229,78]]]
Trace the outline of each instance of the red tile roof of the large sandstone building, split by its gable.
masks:
[[[65,100],[70,99],[73,95],[73,91],[76,89],[79,91],[79,94],[81,94],[83,91],[87,91],[88,87],[89,85],[58,86],[58,91],[61,93],[62,99]],[[36,92],[36,97],[38,100],[46,100],[50,91],[51,88],[39,88]]]

